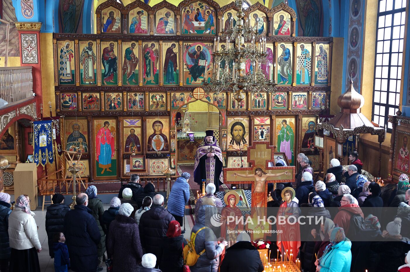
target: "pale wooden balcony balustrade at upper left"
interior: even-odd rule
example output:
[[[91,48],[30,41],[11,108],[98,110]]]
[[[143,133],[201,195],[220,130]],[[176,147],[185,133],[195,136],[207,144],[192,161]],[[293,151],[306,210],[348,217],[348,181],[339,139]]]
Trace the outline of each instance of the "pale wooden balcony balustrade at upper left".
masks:
[[[32,66],[0,67],[0,98],[16,104],[33,96]]]

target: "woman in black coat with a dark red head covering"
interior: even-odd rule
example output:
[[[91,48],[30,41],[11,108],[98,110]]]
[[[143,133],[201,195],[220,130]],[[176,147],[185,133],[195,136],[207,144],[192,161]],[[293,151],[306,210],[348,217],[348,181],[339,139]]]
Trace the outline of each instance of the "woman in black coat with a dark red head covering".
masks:
[[[159,269],[162,272],[182,272],[184,241],[180,223],[172,220],[169,223],[166,236],[162,239],[162,256],[159,261]]]

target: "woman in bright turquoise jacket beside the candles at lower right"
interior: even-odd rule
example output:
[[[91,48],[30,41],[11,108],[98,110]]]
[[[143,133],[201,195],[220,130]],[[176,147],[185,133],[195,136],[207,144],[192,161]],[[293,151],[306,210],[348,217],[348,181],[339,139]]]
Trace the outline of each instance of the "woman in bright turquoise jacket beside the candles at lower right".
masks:
[[[330,230],[330,245],[315,263],[319,272],[350,272],[352,242],[344,235],[343,228]],[[319,263],[319,264],[318,264]]]

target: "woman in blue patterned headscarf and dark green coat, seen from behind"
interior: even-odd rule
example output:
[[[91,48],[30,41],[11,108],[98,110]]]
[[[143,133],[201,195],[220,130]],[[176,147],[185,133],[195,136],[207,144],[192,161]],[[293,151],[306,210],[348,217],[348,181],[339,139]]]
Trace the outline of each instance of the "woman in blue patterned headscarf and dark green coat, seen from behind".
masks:
[[[98,255],[98,269],[100,269],[101,264],[103,263],[103,256],[105,253],[105,224],[103,222],[104,207],[101,199],[97,197],[97,187],[94,185],[88,186],[85,191],[88,195],[88,207],[91,209],[91,214],[94,216],[98,230],[101,234],[100,243],[97,245],[97,255]],[[101,270],[99,270],[101,271]]]

